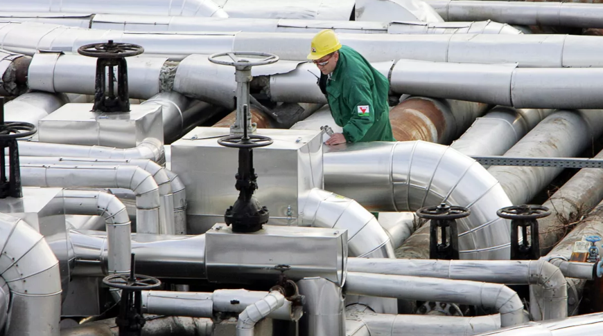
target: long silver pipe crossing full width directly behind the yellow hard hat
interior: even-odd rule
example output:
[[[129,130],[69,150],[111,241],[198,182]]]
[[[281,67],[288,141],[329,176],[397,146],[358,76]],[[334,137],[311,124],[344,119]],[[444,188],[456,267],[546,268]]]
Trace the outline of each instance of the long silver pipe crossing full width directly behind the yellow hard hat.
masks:
[[[191,54],[263,51],[306,62],[314,33],[231,32],[162,34],[85,30],[34,22],[0,24],[0,47],[33,55],[37,50],[75,53],[80,46],[113,39],[145,46],[145,55],[180,60]],[[603,64],[598,37],[574,35],[338,35],[370,62],[422,59],[432,62],[518,63],[521,67],[597,67]],[[469,52],[468,52],[469,50]],[[280,62],[279,62],[280,63]],[[258,68],[265,68],[258,67]]]

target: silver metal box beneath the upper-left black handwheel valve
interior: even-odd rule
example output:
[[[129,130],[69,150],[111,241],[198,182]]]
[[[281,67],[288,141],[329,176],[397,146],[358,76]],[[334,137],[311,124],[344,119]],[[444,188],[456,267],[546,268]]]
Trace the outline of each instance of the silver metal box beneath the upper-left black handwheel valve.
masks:
[[[130,112],[91,112],[92,104],[66,104],[38,122],[40,142],[136,147],[145,138],[164,142],[161,105],[130,105]]]

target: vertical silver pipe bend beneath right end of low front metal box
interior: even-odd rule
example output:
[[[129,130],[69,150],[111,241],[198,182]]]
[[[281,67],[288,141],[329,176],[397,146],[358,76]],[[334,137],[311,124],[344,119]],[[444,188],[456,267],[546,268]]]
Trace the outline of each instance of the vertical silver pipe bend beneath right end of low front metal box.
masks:
[[[297,281],[299,293],[306,296],[304,316],[299,320],[301,335],[346,335],[342,290],[335,283],[322,278]]]

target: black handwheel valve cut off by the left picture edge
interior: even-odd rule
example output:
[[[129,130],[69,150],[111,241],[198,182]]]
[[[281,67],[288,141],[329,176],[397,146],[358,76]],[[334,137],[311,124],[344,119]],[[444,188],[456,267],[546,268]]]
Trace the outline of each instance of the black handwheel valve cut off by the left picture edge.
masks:
[[[21,170],[19,169],[18,138],[33,136],[37,129],[29,122],[4,121],[4,97],[0,97],[0,198],[23,197]],[[8,180],[6,178],[6,157],[8,148]]]

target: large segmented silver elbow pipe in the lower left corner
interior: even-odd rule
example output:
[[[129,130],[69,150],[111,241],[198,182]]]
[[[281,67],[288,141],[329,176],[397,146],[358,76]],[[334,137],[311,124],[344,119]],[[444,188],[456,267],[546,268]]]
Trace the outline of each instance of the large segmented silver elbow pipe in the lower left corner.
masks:
[[[0,274],[10,290],[6,335],[58,336],[61,277],[55,254],[44,236],[6,214],[0,214],[0,241]]]

